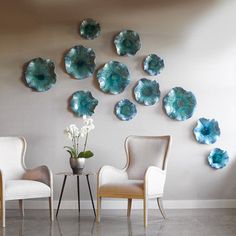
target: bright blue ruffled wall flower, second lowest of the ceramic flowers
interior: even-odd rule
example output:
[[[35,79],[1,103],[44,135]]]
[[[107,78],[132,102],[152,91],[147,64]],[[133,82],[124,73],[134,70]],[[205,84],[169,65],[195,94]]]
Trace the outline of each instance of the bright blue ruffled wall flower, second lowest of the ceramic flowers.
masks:
[[[203,144],[213,144],[220,137],[220,128],[214,119],[200,118],[193,132],[196,140]]]

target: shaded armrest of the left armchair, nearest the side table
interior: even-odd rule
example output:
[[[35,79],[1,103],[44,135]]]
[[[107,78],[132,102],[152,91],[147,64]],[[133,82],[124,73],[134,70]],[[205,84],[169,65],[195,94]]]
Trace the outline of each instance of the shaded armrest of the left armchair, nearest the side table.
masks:
[[[53,185],[52,172],[47,166],[39,166],[34,169],[26,170],[25,174],[23,175],[23,179],[39,181],[48,185],[49,187],[52,187]]]

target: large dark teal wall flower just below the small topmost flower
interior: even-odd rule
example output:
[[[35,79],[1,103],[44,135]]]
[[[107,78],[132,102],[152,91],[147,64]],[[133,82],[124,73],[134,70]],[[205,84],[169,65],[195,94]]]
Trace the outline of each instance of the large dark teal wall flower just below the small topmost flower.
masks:
[[[76,79],[91,77],[95,70],[95,52],[91,48],[77,45],[65,55],[65,68]]]

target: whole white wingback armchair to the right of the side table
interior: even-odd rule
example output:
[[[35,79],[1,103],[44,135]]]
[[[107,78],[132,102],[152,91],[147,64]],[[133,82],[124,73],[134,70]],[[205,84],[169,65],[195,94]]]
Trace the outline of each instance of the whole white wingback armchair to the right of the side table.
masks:
[[[144,226],[147,226],[148,199],[156,198],[162,216],[162,197],[166,180],[170,136],[129,136],[125,140],[127,164],[121,170],[103,166],[97,181],[97,222],[102,198],[127,198],[127,216],[132,199],[143,199]]]

